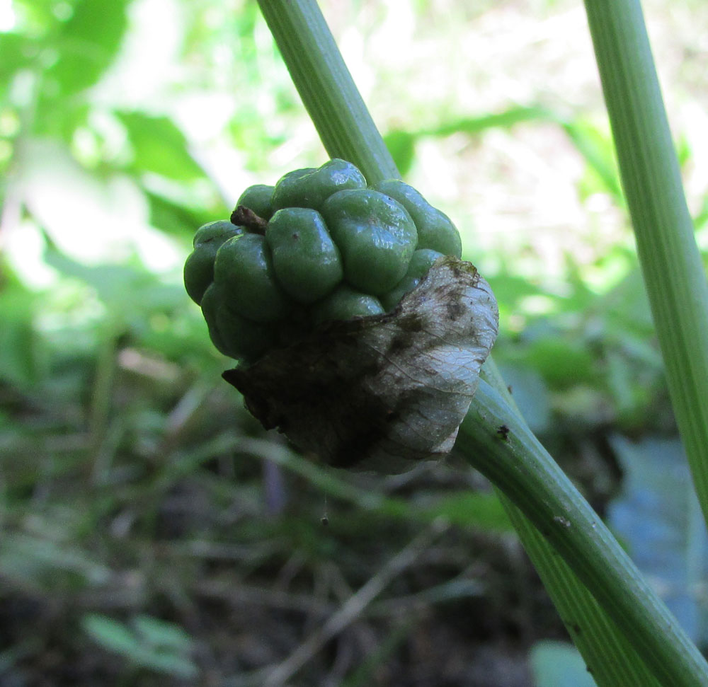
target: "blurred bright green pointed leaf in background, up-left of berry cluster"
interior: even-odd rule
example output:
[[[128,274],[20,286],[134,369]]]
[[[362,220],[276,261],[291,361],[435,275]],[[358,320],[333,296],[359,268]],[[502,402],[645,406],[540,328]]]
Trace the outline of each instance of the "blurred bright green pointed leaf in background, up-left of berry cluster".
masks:
[[[133,149],[133,168],[181,181],[202,178],[204,171],[188,151],[184,134],[169,117],[117,112]]]

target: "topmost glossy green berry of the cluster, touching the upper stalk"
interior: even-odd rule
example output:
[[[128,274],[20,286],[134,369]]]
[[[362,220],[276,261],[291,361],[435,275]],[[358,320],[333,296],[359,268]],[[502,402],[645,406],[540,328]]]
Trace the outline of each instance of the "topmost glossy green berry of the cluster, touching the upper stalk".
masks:
[[[333,193],[366,188],[364,175],[353,164],[334,158],[318,168],[297,169],[283,176],[273,192],[273,210],[309,207],[319,210]]]

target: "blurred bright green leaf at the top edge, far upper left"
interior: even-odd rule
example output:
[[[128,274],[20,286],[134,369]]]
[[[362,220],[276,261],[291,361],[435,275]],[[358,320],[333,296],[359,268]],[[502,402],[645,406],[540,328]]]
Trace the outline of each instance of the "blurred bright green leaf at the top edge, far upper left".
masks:
[[[127,28],[130,0],[79,0],[54,47],[58,59],[45,72],[50,96],[67,96],[93,86],[113,62]],[[52,91],[54,91],[52,93]]]

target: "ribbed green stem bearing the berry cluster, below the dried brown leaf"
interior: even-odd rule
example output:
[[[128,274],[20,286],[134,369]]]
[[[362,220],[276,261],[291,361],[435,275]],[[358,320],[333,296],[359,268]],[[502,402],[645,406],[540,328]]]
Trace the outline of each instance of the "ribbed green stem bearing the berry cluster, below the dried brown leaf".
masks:
[[[506,439],[501,425],[509,429]],[[525,422],[484,380],[456,445],[561,555],[661,683],[708,684],[695,645]]]

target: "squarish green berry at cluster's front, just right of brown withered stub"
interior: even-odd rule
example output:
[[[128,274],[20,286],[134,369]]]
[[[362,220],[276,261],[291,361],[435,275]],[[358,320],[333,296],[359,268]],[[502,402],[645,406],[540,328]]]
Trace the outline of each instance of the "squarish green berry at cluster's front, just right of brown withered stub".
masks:
[[[318,301],[341,282],[339,250],[316,210],[278,210],[268,222],[265,241],[270,246],[275,277],[295,301]]]

